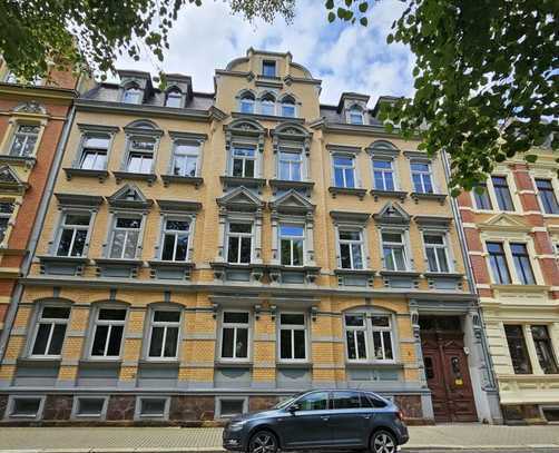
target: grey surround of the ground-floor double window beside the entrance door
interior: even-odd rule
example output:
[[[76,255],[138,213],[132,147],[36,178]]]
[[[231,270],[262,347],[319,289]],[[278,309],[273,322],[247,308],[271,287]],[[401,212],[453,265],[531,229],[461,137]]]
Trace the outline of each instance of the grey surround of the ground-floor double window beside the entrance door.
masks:
[[[367,360],[350,360],[349,358],[349,349],[347,349],[347,336],[345,335],[346,327],[345,327],[345,315],[364,315],[365,317],[365,345],[366,345],[366,355]],[[372,358],[373,354],[370,351],[370,347],[373,342],[372,337],[372,326],[370,325],[370,318],[371,316],[388,316],[390,319],[390,333],[391,333],[391,341],[392,341],[392,355],[394,358],[392,360],[374,360]],[[346,309],[342,312],[342,319],[343,319],[343,336],[344,336],[344,356],[345,361],[347,364],[398,364],[400,361],[400,349],[399,349],[399,333],[398,333],[398,315],[394,312],[391,312],[385,308],[380,308],[380,307],[353,307],[350,309]]]

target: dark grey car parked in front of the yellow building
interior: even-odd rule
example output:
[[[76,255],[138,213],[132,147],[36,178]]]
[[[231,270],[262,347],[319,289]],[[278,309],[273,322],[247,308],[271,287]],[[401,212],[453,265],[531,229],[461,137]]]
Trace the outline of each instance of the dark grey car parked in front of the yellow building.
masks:
[[[395,453],[408,440],[394,404],[353,390],[298,393],[269,411],[232,418],[223,433],[225,449],[248,453],[346,447]]]

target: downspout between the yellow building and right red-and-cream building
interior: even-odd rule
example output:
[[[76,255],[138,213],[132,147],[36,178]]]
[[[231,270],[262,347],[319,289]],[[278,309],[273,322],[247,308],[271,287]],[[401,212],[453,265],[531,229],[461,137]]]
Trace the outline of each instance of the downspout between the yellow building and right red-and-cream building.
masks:
[[[449,156],[447,155],[445,151],[441,151],[441,156],[442,156],[442,161],[443,161],[443,167],[444,167],[444,175],[447,177],[447,186],[449,186],[450,175],[451,175]],[[488,368],[489,368],[488,370],[488,380],[489,380],[489,384],[491,385],[492,390],[499,395],[499,392],[497,392],[497,380],[494,376],[493,361],[492,361],[491,354],[489,353],[489,347],[488,347],[487,337],[486,337],[486,323],[483,321],[483,314],[482,314],[481,308],[479,306],[480,295],[478,292],[478,286],[475,285],[475,279],[473,277],[473,267],[472,267],[472,263],[470,260],[470,254],[468,253],[468,248],[465,246],[467,243],[465,243],[464,228],[463,228],[463,224],[462,224],[462,217],[460,216],[460,209],[459,209],[457,199],[454,197],[450,197],[450,198],[451,198],[450,204],[452,207],[452,214],[454,216],[454,221],[457,223],[457,226],[458,226],[457,233],[458,233],[458,236],[460,239],[460,249],[462,250],[462,255],[464,256],[464,260],[465,260],[465,273],[468,275],[468,280],[470,284],[470,293],[473,296],[475,296],[475,299],[477,299],[475,308],[477,308],[479,319],[480,319],[481,347],[483,348],[483,355],[486,357]]]

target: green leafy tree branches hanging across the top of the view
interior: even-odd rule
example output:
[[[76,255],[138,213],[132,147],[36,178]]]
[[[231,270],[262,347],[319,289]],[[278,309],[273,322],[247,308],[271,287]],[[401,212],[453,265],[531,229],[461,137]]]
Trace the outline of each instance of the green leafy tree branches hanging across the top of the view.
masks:
[[[226,0],[247,20],[290,22],[295,0]],[[376,1],[326,0],[330,22],[367,26]],[[384,105],[386,127],[451,156],[453,194],[496,164],[558,144],[557,0],[402,0],[388,42],[415,55],[414,95]],[[114,69],[120,53],[161,61],[182,9],[202,0],[0,0],[0,52],[17,76],[45,76],[49,61]],[[288,29],[287,29],[288,32]],[[382,93],[376,93],[382,95]],[[552,137],[552,139],[550,139]]]

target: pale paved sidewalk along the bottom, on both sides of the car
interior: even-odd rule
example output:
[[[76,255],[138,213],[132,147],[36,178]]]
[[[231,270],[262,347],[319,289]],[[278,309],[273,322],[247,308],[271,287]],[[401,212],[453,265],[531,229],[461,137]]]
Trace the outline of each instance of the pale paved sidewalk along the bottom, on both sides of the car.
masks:
[[[411,426],[405,450],[536,449],[559,451],[559,426],[447,424]],[[217,453],[222,430],[213,427],[1,427],[0,453]]]

